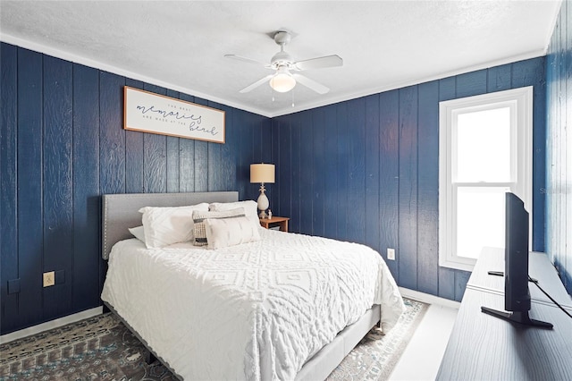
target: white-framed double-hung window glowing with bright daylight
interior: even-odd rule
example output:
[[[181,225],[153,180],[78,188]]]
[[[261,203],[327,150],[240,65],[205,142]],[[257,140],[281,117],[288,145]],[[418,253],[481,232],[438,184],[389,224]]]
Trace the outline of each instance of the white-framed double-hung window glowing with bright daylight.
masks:
[[[440,266],[471,271],[504,247],[506,191],[532,218],[532,106],[532,87],[439,104]]]

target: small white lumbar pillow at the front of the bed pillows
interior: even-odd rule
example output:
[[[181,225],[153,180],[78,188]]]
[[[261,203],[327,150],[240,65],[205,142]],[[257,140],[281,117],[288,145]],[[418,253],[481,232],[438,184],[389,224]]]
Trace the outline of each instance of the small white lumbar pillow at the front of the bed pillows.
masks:
[[[207,218],[205,220],[208,249],[221,249],[241,243],[260,241],[258,217]]]

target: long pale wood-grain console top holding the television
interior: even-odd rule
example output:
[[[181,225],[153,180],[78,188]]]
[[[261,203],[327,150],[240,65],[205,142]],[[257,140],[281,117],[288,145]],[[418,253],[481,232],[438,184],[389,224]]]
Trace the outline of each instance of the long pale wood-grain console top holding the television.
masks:
[[[499,312],[504,309],[504,279],[488,275],[489,270],[503,269],[502,249],[484,250],[477,260],[436,379],[572,380],[572,319],[536,286],[529,285],[532,308],[526,317],[512,314],[509,324],[482,312],[481,306]],[[530,253],[529,273],[572,312],[572,298],[546,254]],[[553,329],[530,329],[520,323],[526,318],[549,321]]]

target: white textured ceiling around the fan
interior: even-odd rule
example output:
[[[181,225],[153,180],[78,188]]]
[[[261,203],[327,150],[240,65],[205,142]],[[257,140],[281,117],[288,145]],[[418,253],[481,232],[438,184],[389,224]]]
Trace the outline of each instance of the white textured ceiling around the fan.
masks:
[[[244,110],[276,116],[544,55],[560,1],[0,1],[0,39]],[[271,38],[296,60],[340,55],[304,74],[331,90],[267,85]],[[291,106],[292,98],[295,106]]]

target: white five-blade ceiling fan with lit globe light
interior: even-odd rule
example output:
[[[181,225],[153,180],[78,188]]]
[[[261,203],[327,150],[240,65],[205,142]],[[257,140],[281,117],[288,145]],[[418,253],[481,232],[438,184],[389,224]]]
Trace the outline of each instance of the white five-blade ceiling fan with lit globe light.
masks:
[[[314,90],[318,94],[325,94],[330,89],[326,88],[324,85],[316,82],[315,80],[310,80],[306,76],[299,74],[304,70],[310,69],[323,69],[326,67],[341,66],[343,60],[339,55],[325,55],[323,57],[310,58],[304,61],[294,61],[292,57],[284,51],[284,46],[290,42],[291,35],[288,31],[279,30],[274,33],[274,42],[280,45],[280,52],[276,53],[270,64],[261,63],[257,60],[250,58],[241,57],[240,55],[224,55],[225,57],[232,58],[235,60],[262,64],[266,69],[272,69],[273,74],[266,75],[264,78],[257,80],[246,88],[241,89],[241,93],[248,93],[265,82],[268,82],[271,88],[275,91],[285,93],[294,89],[297,83],[306,86],[308,89]],[[294,72],[294,73],[292,73]]]

